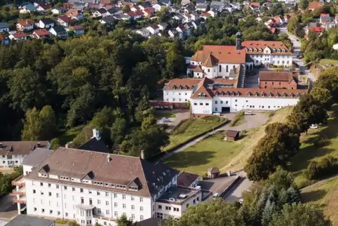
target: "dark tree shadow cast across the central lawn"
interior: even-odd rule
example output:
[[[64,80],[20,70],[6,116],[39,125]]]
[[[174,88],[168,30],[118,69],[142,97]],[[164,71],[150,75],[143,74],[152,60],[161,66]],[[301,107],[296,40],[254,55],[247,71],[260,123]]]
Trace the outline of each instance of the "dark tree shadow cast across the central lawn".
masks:
[[[185,168],[189,166],[205,165],[210,162],[209,159],[215,157],[215,154],[210,151],[203,152],[178,152],[168,159],[165,159],[164,164],[168,164],[173,168]],[[208,169],[205,168],[205,172]]]

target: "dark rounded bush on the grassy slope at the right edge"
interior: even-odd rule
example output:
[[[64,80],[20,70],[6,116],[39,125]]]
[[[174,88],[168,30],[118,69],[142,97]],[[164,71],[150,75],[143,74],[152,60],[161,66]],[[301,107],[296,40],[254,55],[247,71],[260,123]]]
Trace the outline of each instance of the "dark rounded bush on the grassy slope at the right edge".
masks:
[[[325,157],[321,161],[311,161],[306,169],[306,175],[309,180],[317,180],[337,172],[338,159],[334,157]]]

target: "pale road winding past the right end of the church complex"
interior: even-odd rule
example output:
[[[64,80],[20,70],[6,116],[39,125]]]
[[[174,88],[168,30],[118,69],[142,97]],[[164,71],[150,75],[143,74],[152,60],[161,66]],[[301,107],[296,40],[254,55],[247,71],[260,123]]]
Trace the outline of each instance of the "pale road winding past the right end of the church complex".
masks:
[[[311,72],[309,71],[309,69],[307,69],[307,67],[304,66],[304,61],[302,59],[297,59],[297,55],[300,55],[301,51],[300,51],[300,46],[301,46],[301,42],[297,41],[297,36],[294,36],[292,34],[288,33],[288,30],[286,27],[280,27],[280,32],[283,32],[285,34],[288,34],[289,39],[292,41],[293,47],[294,47],[294,51],[293,51],[293,59],[292,61],[297,63],[297,65],[299,65],[299,69],[304,72],[304,74],[306,74],[306,77],[310,79],[310,88],[313,87],[313,81],[316,81],[316,78],[313,76],[313,74],[311,74]],[[299,39],[298,39],[299,40]]]

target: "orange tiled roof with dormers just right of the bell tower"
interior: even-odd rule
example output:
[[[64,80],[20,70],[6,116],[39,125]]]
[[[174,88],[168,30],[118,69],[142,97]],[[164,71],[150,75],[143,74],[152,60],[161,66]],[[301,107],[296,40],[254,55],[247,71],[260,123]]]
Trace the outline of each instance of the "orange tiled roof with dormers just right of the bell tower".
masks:
[[[242,46],[248,49],[252,48],[252,51],[246,51],[248,54],[262,54],[264,48],[269,47],[270,49],[280,49],[280,52],[271,51],[271,55],[293,55],[288,47],[283,44],[283,41],[243,41]],[[259,49],[262,49],[262,51],[259,51]],[[284,53],[283,50],[285,50]]]

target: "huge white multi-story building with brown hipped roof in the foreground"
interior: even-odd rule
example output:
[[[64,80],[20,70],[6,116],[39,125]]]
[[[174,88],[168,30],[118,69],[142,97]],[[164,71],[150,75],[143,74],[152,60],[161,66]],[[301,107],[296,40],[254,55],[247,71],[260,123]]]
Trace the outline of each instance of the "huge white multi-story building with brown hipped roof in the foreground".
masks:
[[[116,225],[121,215],[140,221],[180,217],[202,200],[202,191],[177,186],[164,164],[83,149],[60,147],[12,182],[27,214],[76,220],[80,225]]]

